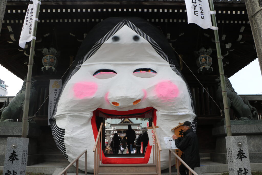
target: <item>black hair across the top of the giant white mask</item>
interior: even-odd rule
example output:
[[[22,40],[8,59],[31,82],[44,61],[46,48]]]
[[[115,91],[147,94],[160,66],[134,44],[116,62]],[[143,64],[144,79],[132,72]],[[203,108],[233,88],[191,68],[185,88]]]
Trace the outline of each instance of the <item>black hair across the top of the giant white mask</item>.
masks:
[[[87,54],[88,51],[90,51],[94,45],[97,45],[98,42],[100,42],[101,38],[108,36],[112,39],[113,42],[120,41],[121,38],[119,36],[114,35],[120,28],[117,30],[111,31],[116,26],[119,26],[120,24],[127,24],[132,23],[135,25],[139,30],[141,30],[144,34],[149,36],[149,38],[145,35],[141,36],[139,34],[130,36],[130,42],[136,41],[139,42],[140,38],[143,37],[148,41],[154,41],[159,47],[162,49],[162,51],[168,56],[168,62],[172,63],[176,69],[180,72],[179,64],[177,62],[176,56],[173,52],[172,47],[170,47],[169,42],[167,41],[165,35],[156,28],[153,24],[149,23],[148,21],[138,18],[138,17],[110,17],[107,19],[104,19],[99,24],[95,25],[87,34],[84,41],[82,42],[79,51],[76,55],[75,61],[72,65],[72,70],[74,68],[83,63],[83,57]],[[113,32],[113,33],[110,33]],[[103,43],[100,43],[103,44]],[[100,47],[100,46],[98,46]],[[69,75],[71,74],[69,73]]]

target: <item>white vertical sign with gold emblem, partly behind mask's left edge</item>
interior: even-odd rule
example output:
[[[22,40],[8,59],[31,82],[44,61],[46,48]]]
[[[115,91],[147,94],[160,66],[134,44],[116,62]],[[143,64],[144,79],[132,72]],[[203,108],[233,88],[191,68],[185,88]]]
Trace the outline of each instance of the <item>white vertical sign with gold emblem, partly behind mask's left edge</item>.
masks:
[[[56,100],[57,100],[61,87],[62,87],[62,80],[59,81],[59,79],[50,79],[49,94],[50,93],[51,94],[49,95],[49,103],[48,103],[48,125],[50,125],[49,119],[52,116],[53,109],[56,105]]]

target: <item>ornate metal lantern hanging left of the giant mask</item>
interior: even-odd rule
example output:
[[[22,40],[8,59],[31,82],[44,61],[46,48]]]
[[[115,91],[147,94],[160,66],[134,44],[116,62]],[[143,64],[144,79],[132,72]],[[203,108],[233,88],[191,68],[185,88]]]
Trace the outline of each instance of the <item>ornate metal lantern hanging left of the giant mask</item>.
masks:
[[[42,58],[42,64],[44,66],[42,67],[42,71],[44,73],[56,73],[56,66],[58,64],[57,57],[60,55],[60,52],[53,47],[50,47],[49,50],[44,48],[42,53],[45,55]]]

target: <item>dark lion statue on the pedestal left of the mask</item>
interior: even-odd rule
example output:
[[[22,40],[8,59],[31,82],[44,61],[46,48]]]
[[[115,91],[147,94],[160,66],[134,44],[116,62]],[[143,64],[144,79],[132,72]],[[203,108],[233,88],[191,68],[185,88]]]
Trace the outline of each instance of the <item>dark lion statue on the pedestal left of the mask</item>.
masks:
[[[31,89],[30,89],[30,98],[29,98],[29,111],[28,115],[33,115],[34,103],[37,99],[37,92],[35,90],[35,79],[31,79]],[[1,118],[0,121],[17,121],[20,116],[21,110],[24,110],[24,100],[25,100],[25,87],[26,87],[26,77],[22,88],[17,93],[17,95],[9,102],[7,97],[7,102],[4,102],[3,107],[0,109]]]

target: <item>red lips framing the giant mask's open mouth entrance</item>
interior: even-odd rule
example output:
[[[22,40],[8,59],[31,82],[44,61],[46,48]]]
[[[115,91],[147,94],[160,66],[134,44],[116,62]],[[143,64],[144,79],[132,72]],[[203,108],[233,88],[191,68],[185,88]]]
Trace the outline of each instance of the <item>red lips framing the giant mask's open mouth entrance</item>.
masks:
[[[94,134],[94,138],[96,139],[98,134],[98,127],[102,122],[105,121],[106,118],[145,118],[150,117],[150,121],[154,122],[156,125],[156,109],[152,107],[147,107],[144,109],[133,109],[128,111],[117,111],[117,110],[109,110],[109,109],[101,109],[98,108],[93,112],[93,117],[91,119],[92,130]],[[149,122],[151,124],[151,122]],[[105,125],[103,125],[105,126]],[[103,134],[104,136],[105,134]],[[104,138],[103,138],[104,140]],[[104,148],[102,148],[104,150]],[[148,163],[152,146],[147,146],[144,157],[141,158],[132,158],[136,157],[134,154],[118,154],[117,157],[112,158],[112,156],[105,156],[102,151],[102,163],[104,164],[123,164],[123,163]],[[127,158],[127,157],[130,158]],[[125,158],[124,158],[125,157]]]

